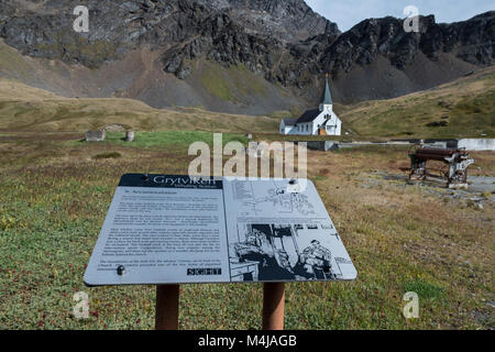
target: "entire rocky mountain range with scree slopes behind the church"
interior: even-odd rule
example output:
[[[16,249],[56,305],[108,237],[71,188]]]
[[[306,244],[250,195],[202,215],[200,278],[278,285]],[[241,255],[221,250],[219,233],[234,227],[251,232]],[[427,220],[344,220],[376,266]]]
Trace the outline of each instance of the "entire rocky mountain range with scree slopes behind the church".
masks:
[[[419,33],[394,18],[341,33],[304,0],[87,0],[90,30],[76,33],[78,4],[1,1],[0,37],[32,69],[3,74],[67,96],[266,113],[317,102],[324,73],[336,100],[354,102],[427,89],[495,57],[493,11],[452,24],[425,16]]]

